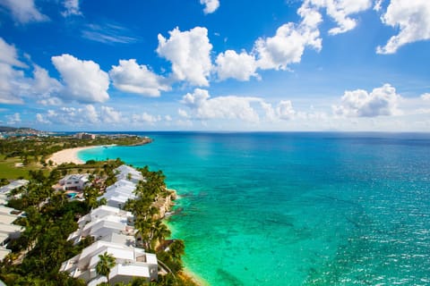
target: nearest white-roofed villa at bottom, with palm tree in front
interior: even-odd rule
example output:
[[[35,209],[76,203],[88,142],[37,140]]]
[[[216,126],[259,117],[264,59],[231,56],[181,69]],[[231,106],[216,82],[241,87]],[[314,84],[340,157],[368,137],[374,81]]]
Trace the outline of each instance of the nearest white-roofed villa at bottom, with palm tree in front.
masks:
[[[116,282],[131,282],[133,277],[143,277],[148,281],[157,280],[156,255],[146,253],[142,248],[128,246],[130,239],[133,237],[112,233],[104,240],[96,241],[88,248],[84,248],[80,255],[65,261],[60,271],[67,271],[72,277],[83,279],[89,286],[107,282],[106,277],[96,272],[99,255],[107,252],[116,258],[116,265],[109,274],[111,285],[115,285]]]

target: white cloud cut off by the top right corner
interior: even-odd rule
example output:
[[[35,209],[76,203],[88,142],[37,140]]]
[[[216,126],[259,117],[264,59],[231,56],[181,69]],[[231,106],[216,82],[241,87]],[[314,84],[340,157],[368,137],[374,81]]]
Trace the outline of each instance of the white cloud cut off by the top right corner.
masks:
[[[430,39],[430,1],[391,0],[383,14],[385,25],[400,29],[385,46],[378,46],[378,54],[394,54],[400,46]]]

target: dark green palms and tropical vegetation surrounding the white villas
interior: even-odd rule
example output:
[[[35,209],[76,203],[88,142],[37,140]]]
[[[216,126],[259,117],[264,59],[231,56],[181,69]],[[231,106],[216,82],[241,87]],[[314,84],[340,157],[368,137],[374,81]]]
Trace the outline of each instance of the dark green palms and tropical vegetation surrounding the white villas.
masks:
[[[55,142],[56,139],[48,142]],[[10,154],[12,146],[2,140],[0,152]],[[16,141],[10,141],[14,145]],[[34,143],[34,141],[33,141]],[[63,142],[62,147],[71,147]],[[17,144],[14,155],[27,158],[43,156],[44,151],[52,152],[54,145],[32,147],[30,142]],[[35,151],[38,150],[38,151]],[[23,153],[24,152],[24,153]],[[31,153],[33,152],[33,153]],[[24,156],[22,157],[22,159]],[[8,248],[11,254],[0,263],[0,279],[6,285],[85,285],[85,282],[75,279],[69,273],[59,272],[61,264],[67,259],[79,254],[83,248],[90,246],[94,241],[88,237],[79,244],[74,245],[67,238],[78,227],[77,220],[84,214],[88,214],[91,208],[97,207],[102,201],[98,197],[107,185],[116,181],[115,168],[124,164],[120,159],[103,162],[89,161],[86,164],[61,164],[57,167],[49,164],[39,169],[30,169],[26,178],[30,180],[27,186],[14,189],[11,192],[8,205],[21,210],[23,215],[14,223],[22,225],[24,231],[20,238],[12,240]],[[185,245],[182,240],[167,240],[170,231],[161,221],[158,202],[172,196],[166,188],[163,172],[150,172],[146,166],[138,169],[142,172],[144,181],[138,184],[135,190],[136,199],[129,200],[125,206],[135,216],[135,227],[138,230],[137,240],[142,248],[148,252],[155,252],[159,258],[159,265],[164,270],[164,275],[159,275],[158,282],[146,282],[136,278],[133,282],[122,285],[195,285],[181,271],[183,263],[181,256],[185,253]],[[64,191],[56,191],[52,188],[56,182],[67,173],[87,172],[90,174],[92,184],[83,191],[83,200],[70,200]],[[96,179],[103,180],[96,180]],[[7,179],[7,180],[6,180]],[[0,179],[5,184],[9,179]],[[97,272],[108,278],[110,269],[115,265],[109,254],[100,257]],[[115,260],[115,259],[114,259]]]

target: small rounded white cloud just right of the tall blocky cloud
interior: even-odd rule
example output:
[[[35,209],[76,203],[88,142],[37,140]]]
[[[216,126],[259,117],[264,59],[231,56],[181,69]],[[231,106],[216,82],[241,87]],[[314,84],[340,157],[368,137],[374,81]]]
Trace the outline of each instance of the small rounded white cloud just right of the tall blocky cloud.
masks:
[[[245,51],[237,54],[235,51],[227,50],[218,55],[216,63],[219,80],[231,78],[245,81],[251,77],[258,77],[255,72],[257,69],[255,57],[254,55],[248,55]]]

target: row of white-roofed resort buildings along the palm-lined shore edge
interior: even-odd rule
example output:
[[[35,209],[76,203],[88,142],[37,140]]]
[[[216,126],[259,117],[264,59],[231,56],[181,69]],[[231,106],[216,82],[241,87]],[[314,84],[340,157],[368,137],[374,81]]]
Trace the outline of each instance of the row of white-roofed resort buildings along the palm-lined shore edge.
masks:
[[[131,168],[125,167],[123,169],[127,172]],[[133,172],[137,171],[133,169]],[[134,177],[137,179],[138,176]],[[99,206],[90,214],[82,216],[78,221],[79,229],[68,238],[73,243],[78,243],[83,237],[92,236],[96,242],[84,248],[81,254],[65,261],[60,271],[67,271],[72,277],[83,279],[89,286],[107,282],[107,278],[96,271],[99,255],[107,253],[116,260],[116,265],[109,273],[111,285],[116,282],[131,282],[133,277],[142,277],[148,282],[158,279],[156,255],[146,253],[142,248],[135,248],[133,214],[120,209],[129,198],[134,198],[136,183],[137,181],[125,178],[107,187],[106,193],[101,197],[107,199],[107,206]]]

